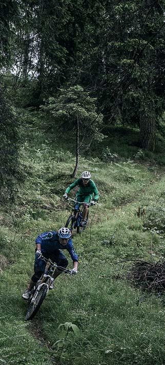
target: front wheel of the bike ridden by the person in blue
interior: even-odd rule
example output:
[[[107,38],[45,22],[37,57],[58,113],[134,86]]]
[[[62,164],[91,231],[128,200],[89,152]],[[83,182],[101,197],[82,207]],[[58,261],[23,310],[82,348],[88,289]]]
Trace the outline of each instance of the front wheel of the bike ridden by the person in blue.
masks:
[[[29,321],[30,319],[34,318],[34,316],[38,312],[38,309],[42,305],[42,303],[47,295],[47,290],[48,290],[47,285],[43,285],[41,287],[40,291],[38,292],[34,302],[30,303],[27,313],[26,313],[26,317],[25,317],[26,321]]]

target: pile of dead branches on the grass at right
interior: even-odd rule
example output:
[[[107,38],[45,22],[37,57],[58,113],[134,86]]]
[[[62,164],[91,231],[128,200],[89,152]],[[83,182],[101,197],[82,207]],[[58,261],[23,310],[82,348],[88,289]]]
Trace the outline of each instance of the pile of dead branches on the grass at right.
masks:
[[[165,289],[165,261],[135,262],[127,273],[127,279],[142,289],[161,292]]]

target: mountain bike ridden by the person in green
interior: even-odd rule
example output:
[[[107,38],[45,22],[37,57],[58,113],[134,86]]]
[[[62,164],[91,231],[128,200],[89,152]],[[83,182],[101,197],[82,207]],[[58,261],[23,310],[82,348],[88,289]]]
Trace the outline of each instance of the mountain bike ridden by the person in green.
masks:
[[[78,203],[76,200],[68,198],[67,201],[74,202],[74,206],[72,207],[72,213],[67,219],[67,222],[65,224],[65,227],[68,227],[71,231],[74,229],[77,229],[77,233],[83,232],[83,230],[86,228],[86,225],[88,223],[88,216],[89,216],[89,210],[87,214],[87,223],[81,227],[81,221],[83,220],[83,204],[86,204],[88,206],[95,205],[91,203],[81,202]]]

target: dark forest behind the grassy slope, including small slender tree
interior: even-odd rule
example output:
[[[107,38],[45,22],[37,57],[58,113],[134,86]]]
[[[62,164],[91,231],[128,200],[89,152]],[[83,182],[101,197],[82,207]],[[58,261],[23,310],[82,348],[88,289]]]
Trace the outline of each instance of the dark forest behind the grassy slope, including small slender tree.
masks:
[[[163,133],[164,4],[0,2],[1,201],[24,180],[19,147],[26,111],[32,119],[38,112],[36,128],[64,141],[77,130],[77,159],[78,147],[89,150],[111,126],[137,129],[139,148],[155,150],[156,132]]]

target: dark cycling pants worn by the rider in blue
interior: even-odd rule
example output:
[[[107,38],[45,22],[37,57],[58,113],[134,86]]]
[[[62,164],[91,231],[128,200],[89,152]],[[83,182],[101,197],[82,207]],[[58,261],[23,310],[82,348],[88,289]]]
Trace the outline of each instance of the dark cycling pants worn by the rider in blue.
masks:
[[[62,266],[65,268],[68,266],[68,260],[63,252],[60,251],[60,249],[56,249],[53,253],[43,253],[43,256],[55,262],[58,266]],[[37,282],[39,280],[39,278],[45,271],[45,266],[46,262],[44,260],[35,257],[34,275],[31,278],[33,282]],[[58,270],[60,271],[60,268]],[[63,270],[61,269],[61,271]]]

